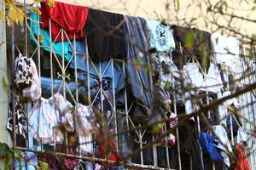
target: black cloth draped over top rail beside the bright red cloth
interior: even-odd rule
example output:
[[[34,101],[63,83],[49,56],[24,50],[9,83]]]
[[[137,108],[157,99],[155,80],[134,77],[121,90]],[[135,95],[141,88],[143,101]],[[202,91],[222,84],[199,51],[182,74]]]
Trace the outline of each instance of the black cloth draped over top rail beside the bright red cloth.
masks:
[[[84,26],[90,58],[96,62],[126,58],[124,26],[123,14],[90,8]]]

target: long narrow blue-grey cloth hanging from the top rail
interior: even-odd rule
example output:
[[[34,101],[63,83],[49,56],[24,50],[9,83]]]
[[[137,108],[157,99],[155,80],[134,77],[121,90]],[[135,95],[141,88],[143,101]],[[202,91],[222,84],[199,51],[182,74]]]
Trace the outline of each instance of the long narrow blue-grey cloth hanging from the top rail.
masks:
[[[139,17],[125,16],[125,42],[127,50],[127,82],[135,98],[134,119],[148,122],[152,103],[152,77],[145,71],[149,65],[148,31],[146,21]]]

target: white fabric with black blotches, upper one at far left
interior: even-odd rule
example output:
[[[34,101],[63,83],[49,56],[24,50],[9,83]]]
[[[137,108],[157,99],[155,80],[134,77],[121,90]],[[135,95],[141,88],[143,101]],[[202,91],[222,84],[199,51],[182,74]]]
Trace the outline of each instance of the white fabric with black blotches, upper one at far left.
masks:
[[[23,97],[37,100],[41,96],[37,66],[32,58],[19,55],[15,59],[15,85],[22,92]]]

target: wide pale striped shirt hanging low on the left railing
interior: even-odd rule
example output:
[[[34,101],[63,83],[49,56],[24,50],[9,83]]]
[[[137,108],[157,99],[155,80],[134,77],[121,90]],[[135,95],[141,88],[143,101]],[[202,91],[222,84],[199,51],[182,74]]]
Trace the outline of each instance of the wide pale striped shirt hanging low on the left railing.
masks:
[[[63,132],[61,128],[55,127],[63,125],[66,130],[73,132],[73,116],[71,111],[73,105],[61,94],[54,94],[49,99],[41,98],[32,108],[28,115],[30,140],[42,139],[43,144],[63,143]]]

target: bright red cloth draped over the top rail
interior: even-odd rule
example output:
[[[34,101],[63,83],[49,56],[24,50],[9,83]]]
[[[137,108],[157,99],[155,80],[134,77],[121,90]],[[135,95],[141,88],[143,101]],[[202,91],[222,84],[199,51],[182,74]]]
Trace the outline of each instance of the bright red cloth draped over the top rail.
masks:
[[[55,7],[49,8],[48,2],[46,0],[41,3],[41,21],[43,28],[49,29],[49,18],[51,19],[51,34],[55,42],[61,42],[61,33],[58,36],[61,28],[67,32],[70,40],[74,38],[74,33],[76,39],[85,37],[84,25],[89,8],[59,2],[55,2]],[[63,41],[67,41],[67,37],[64,34]]]

